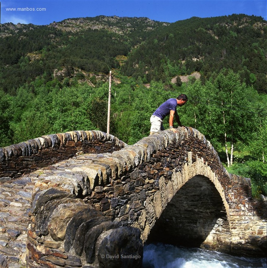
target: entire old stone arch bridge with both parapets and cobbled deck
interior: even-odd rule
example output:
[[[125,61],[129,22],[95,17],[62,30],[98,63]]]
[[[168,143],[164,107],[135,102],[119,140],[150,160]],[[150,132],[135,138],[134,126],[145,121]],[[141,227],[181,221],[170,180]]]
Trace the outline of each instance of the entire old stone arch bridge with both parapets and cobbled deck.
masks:
[[[2,237],[12,236],[11,204],[27,217],[13,233],[24,253],[8,256],[5,240],[3,267],[18,257],[27,267],[139,267],[145,241],[265,255],[266,202],[194,128],[132,146],[100,131],[47,135],[1,148],[0,160]],[[8,202],[8,188],[24,194]]]

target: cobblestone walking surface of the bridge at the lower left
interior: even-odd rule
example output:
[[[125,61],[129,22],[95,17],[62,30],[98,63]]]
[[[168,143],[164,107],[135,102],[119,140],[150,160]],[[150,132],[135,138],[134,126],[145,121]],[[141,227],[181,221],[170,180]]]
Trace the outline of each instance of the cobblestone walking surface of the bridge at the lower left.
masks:
[[[24,267],[34,182],[0,178],[0,267]]]

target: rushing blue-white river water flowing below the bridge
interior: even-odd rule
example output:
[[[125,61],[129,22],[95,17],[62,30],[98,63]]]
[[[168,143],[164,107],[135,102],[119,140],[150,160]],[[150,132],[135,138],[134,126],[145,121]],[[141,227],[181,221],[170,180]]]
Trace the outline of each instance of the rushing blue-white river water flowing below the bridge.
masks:
[[[143,268],[265,268],[266,258],[183,248],[166,244],[144,245]]]

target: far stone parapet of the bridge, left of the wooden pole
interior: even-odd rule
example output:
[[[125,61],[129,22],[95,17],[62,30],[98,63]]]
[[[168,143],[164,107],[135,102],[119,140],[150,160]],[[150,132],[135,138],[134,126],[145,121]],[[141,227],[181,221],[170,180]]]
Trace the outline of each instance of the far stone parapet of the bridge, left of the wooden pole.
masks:
[[[0,177],[16,178],[80,153],[113,152],[126,144],[101,131],[45,135],[0,148]]]

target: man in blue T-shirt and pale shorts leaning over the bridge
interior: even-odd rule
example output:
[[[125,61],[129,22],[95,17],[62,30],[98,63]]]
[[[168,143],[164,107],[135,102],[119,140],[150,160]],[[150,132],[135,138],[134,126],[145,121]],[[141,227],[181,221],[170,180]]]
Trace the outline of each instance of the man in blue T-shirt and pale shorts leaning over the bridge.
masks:
[[[186,102],[187,102],[187,96],[185,94],[180,94],[176,99],[171,98],[165,101],[164,103],[162,103],[162,105],[158,107],[158,109],[155,110],[155,112],[150,117],[150,123],[151,123],[150,135],[160,130],[164,130],[162,120],[167,115],[170,115],[170,118],[169,118],[170,130],[172,130],[173,132],[176,132],[176,129],[173,128],[174,117],[178,125],[184,127],[180,122],[180,118],[176,111],[176,107],[177,106],[181,107],[185,105]]]

